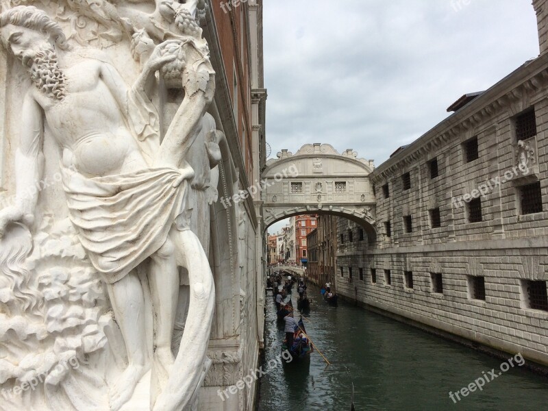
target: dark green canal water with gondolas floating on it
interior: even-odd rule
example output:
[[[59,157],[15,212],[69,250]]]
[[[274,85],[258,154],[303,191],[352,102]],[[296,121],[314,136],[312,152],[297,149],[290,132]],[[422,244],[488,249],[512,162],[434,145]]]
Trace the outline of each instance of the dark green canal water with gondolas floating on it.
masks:
[[[318,352],[309,361],[279,365],[284,330],[269,291],[258,411],[349,411],[352,384],[356,411],[548,410],[548,378],[520,367],[519,357],[502,372],[504,360],[343,301],[327,306],[318,288],[308,291],[306,331],[331,365]],[[484,376],[492,381],[481,391],[459,395],[460,401],[449,397]]]

